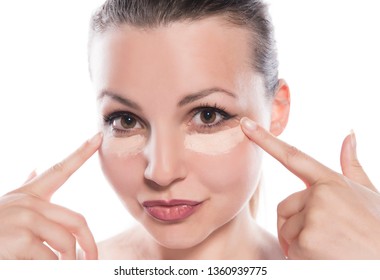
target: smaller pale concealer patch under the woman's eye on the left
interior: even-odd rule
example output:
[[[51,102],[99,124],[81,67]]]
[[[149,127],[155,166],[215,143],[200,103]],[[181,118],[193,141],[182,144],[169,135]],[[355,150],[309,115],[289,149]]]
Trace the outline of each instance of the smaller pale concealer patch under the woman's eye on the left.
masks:
[[[142,152],[146,142],[146,137],[141,134],[120,138],[110,137],[104,139],[102,151],[117,157],[135,156]]]

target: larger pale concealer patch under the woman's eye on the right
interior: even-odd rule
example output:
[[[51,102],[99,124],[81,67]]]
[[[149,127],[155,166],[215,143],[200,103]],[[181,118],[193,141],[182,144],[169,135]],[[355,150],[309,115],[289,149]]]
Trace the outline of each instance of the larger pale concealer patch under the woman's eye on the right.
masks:
[[[197,153],[207,155],[220,155],[229,153],[245,138],[240,125],[216,133],[189,134],[185,137],[185,148]]]

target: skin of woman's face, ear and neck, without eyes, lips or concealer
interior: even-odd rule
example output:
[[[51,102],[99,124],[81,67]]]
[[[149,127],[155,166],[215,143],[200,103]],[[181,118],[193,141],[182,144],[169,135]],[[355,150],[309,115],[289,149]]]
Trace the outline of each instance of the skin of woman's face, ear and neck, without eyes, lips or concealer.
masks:
[[[100,257],[283,258],[278,242],[256,224],[249,210],[261,176],[262,151],[248,138],[217,155],[184,146],[186,135],[212,137],[225,127],[239,127],[243,116],[268,129],[276,123],[277,134],[286,125],[288,88],[281,82],[275,99],[268,100],[263,79],[249,65],[249,38],[247,30],[219,17],[148,30],[124,25],[94,38],[91,73],[100,115],[131,112],[144,120],[131,133],[147,138],[138,154],[112,152],[120,151],[128,136],[115,136],[108,124],[102,126],[99,155],[104,174],[140,224],[101,243]],[[178,106],[189,95],[211,88],[234,96],[217,91]],[[221,128],[199,132],[191,112],[204,104],[217,104],[236,117]],[[142,207],[146,200],[170,199],[202,204],[193,215],[174,223],[158,221]]]

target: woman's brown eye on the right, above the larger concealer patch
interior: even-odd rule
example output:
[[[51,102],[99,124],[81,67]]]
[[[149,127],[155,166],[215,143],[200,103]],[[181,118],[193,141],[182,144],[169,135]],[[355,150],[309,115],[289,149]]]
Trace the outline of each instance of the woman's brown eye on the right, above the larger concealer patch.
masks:
[[[214,127],[230,118],[229,114],[220,109],[206,107],[197,109],[192,122],[197,127]]]

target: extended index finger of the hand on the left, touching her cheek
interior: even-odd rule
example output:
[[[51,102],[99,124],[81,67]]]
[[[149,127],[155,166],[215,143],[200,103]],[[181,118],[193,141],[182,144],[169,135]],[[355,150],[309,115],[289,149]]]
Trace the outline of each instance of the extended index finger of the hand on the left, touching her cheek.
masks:
[[[50,199],[54,192],[98,150],[101,142],[102,134],[97,133],[66,159],[55,164],[40,176],[16,190],[16,192],[29,193],[43,199]]]

